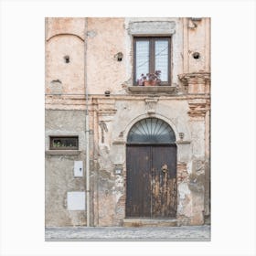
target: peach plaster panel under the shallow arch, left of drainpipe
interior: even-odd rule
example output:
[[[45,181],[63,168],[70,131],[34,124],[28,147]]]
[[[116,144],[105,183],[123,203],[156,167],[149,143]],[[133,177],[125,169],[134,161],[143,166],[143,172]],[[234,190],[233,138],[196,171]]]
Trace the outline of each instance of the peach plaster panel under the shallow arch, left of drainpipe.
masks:
[[[83,42],[78,37],[61,35],[48,41],[47,93],[54,93],[57,86],[61,88],[59,94],[84,93],[83,54]],[[65,56],[69,56],[69,63],[65,62]]]

